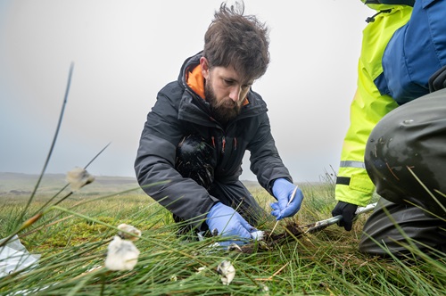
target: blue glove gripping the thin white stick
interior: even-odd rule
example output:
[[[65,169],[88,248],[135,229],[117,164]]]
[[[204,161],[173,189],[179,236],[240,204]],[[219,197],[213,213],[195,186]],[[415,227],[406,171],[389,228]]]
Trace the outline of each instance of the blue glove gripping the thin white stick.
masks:
[[[288,205],[288,201],[290,201],[290,198],[293,195],[294,188],[296,188],[296,185],[293,185],[293,183],[285,178],[278,178],[274,181],[272,192],[277,198],[277,202],[271,203],[270,206],[273,209],[271,215],[276,217],[276,220],[292,217],[301,209],[303,194],[299,188],[296,190],[293,201]]]

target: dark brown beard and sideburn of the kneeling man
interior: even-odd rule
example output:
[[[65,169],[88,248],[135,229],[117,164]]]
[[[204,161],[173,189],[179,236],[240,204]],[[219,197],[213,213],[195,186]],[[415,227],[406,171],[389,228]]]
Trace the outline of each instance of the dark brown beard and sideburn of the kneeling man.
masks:
[[[228,121],[235,119],[242,110],[242,105],[235,103],[230,98],[218,101],[211,85],[204,85],[204,95],[211,107],[212,117],[219,123],[226,124]]]

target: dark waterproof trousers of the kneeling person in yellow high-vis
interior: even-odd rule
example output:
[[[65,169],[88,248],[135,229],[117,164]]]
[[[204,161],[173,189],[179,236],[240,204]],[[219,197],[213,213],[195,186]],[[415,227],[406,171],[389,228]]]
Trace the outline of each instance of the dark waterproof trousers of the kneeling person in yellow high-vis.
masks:
[[[365,163],[382,198],[359,250],[405,253],[409,237],[425,251],[446,251],[446,89],[384,116],[368,138]]]

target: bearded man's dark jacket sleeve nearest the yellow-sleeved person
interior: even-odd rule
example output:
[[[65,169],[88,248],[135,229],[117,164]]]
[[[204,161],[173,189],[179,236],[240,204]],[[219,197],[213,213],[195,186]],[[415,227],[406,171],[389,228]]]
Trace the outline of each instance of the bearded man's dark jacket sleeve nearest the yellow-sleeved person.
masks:
[[[273,195],[271,186],[275,179],[284,177],[293,183],[293,178],[277,152],[267,113],[261,115],[260,126],[253,139],[248,145],[251,152],[250,169],[257,176],[259,184]]]

